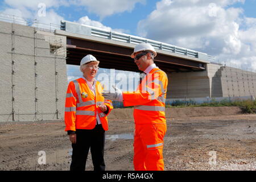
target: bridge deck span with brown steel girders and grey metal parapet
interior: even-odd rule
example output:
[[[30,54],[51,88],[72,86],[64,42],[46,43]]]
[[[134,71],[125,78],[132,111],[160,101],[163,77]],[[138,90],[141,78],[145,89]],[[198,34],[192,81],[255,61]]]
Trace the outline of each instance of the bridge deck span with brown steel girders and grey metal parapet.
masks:
[[[204,60],[208,59],[205,53],[137,36],[67,21],[61,22],[61,29],[55,34],[67,37],[67,64],[79,65],[82,57],[90,53],[101,61],[101,68],[138,72],[130,55],[135,44],[145,42],[155,47],[155,63],[167,73],[205,71],[205,64],[209,63]]]

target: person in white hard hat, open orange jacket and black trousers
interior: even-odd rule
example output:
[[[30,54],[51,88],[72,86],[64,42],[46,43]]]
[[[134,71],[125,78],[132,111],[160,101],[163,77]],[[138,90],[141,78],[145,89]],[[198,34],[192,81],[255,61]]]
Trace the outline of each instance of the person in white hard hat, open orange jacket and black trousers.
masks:
[[[94,77],[98,72],[94,56],[85,56],[80,63],[81,78],[69,82],[65,101],[65,131],[72,143],[71,171],[84,171],[89,148],[94,171],[104,171],[105,131],[112,101],[104,100],[104,89]]]

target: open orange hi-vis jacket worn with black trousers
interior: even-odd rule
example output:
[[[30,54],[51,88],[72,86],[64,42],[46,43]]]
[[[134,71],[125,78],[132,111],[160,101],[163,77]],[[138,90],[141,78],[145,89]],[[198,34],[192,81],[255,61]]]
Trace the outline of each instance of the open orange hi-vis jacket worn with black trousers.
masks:
[[[96,126],[96,111],[103,129],[108,130],[107,115],[113,109],[112,101],[105,100],[101,95],[103,87],[100,82],[95,85],[96,95],[90,90],[83,78],[69,82],[65,101],[65,131],[76,129],[94,129]],[[109,111],[105,114],[98,105],[105,104]]]

